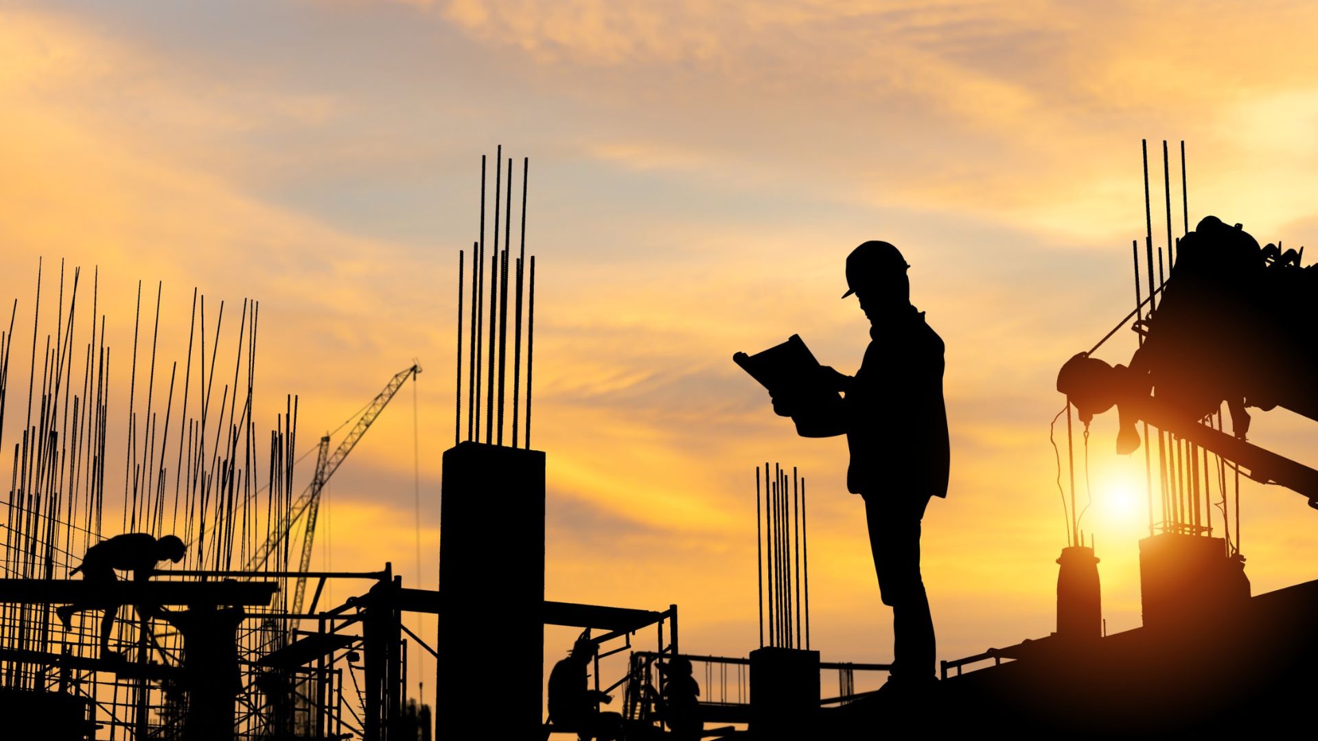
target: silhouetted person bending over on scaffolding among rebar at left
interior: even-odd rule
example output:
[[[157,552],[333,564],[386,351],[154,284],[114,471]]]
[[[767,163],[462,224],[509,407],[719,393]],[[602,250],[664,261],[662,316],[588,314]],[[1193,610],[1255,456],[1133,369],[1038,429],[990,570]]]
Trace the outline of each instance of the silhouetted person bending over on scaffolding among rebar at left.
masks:
[[[108,541],[101,541],[87,548],[82,564],[69,572],[70,576],[82,571],[83,581],[109,583],[117,581],[115,571],[132,571],[133,581],[146,581],[156,570],[156,564],[162,560],[178,563],[183,560],[183,541],[175,535],[165,535],[156,539],[146,533],[125,533],[115,535]],[[119,604],[104,603],[75,603],[61,607],[55,610],[59,622],[69,632],[72,625],[75,612],[103,608],[105,614],[100,618],[100,657],[103,659],[120,659],[123,654],[109,650],[109,633],[115,628],[115,616],[119,613]]]

